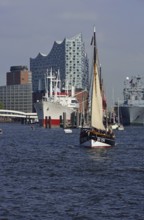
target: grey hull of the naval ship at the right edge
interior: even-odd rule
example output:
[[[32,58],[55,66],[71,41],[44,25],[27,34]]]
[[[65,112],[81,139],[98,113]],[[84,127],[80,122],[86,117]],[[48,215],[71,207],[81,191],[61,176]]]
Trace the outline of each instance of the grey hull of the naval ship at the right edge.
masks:
[[[143,125],[144,106],[123,105],[119,107],[123,125]]]

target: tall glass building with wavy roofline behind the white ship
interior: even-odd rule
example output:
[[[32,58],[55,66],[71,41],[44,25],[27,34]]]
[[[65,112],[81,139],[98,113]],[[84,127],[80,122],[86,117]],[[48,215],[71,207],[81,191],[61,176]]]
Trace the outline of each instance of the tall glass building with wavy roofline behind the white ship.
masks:
[[[39,53],[36,58],[30,58],[33,92],[45,89],[44,75],[50,69],[60,72],[62,83],[84,89],[88,85],[88,58],[82,34],[70,39],[55,41],[48,55]]]

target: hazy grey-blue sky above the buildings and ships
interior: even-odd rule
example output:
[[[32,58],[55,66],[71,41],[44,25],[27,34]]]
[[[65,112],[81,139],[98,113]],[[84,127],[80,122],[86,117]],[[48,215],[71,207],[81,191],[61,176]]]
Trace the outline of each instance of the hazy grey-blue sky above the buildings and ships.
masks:
[[[91,59],[94,26],[108,105],[122,100],[125,78],[144,75],[144,0],[0,0],[0,86],[11,66],[79,33]]]

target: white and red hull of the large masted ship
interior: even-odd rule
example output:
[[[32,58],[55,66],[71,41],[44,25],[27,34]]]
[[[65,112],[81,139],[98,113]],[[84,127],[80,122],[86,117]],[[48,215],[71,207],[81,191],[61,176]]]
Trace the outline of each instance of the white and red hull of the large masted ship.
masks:
[[[34,104],[39,124],[43,127],[60,127],[65,113],[66,121],[70,122],[74,109],[62,106],[59,102],[39,101]]]

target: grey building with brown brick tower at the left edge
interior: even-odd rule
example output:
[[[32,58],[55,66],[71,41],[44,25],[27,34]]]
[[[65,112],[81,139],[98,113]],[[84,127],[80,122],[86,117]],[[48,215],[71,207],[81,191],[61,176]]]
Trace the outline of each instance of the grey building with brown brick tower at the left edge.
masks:
[[[32,74],[25,66],[15,66],[7,73],[7,85],[0,86],[4,109],[32,112]]]

